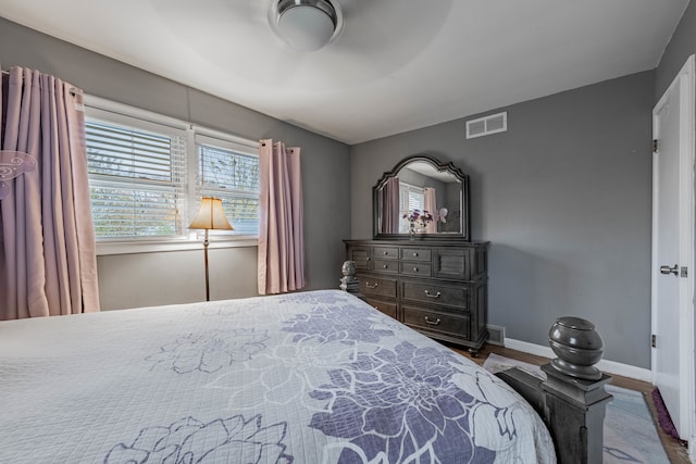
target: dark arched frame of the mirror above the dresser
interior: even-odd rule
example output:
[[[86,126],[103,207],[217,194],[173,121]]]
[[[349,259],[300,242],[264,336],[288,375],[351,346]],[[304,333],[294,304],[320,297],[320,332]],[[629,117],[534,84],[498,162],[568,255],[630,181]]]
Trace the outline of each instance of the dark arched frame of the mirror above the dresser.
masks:
[[[426,162],[431,164],[438,172],[447,172],[452,174],[461,183],[461,192],[460,192],[460,205],[461,205],[461,214],[459,217],[460,221],[460,231],[461,234],[419,234],[419,239],[423,240],[467,240],[470,241],[469,234],[469,176],[465,175],[459,167],[455,166],[450,163],[440,163],[439,160],[430,155],[430,154],[413,154],[401,160],[394,170],[385,172],[377,181],[377,184],[372,188],[372,228],[373,236],[375,239],[396,239],[396,240],[408,240],[410,238],[409,234],[383,234],[380,231],[380,225],[382,223],[381,214],[382,214],[382,189],[386,185],[386,183],[393,178],[397,177],[399,172],[413,162]]]

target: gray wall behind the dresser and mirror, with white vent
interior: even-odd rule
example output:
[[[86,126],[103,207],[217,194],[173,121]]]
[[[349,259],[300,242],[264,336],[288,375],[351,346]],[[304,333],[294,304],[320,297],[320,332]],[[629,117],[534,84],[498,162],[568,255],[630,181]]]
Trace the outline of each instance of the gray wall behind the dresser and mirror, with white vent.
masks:
[[[492,111],[507,133],[465,140],[462,118],[353,146],[351,237],[371,237],[383,172],[451,161],[470,175],[472,239],[492,241],[489,323],[547,346],[557,317],[585,317],[606,359],[649,368],[654,88],[644,72]]]

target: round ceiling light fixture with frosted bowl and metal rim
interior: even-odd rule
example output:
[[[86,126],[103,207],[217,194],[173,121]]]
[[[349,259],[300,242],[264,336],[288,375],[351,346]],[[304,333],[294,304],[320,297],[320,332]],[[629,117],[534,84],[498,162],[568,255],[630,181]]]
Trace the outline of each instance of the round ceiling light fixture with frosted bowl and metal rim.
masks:
[[[270,22],[275,33],[296,50],[315,51],[338,35],[343,16],[340,9],[328,0],[273,0]]]

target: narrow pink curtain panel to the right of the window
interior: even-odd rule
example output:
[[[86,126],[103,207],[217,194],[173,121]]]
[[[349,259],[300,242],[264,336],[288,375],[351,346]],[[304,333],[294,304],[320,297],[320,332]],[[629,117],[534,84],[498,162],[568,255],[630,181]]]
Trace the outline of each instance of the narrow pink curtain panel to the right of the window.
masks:
[[[304,287],[300,149],[261,140],[259,148],[259,294]]]

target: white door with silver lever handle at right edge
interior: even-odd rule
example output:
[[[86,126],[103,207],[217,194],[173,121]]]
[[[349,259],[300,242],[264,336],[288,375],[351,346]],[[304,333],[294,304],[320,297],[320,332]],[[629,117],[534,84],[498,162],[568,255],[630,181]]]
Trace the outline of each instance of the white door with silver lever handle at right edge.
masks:
[[[694,57],[655,106],[652,378],[680,437],[694,418]]]

